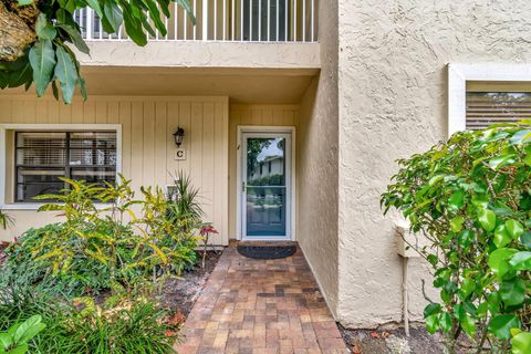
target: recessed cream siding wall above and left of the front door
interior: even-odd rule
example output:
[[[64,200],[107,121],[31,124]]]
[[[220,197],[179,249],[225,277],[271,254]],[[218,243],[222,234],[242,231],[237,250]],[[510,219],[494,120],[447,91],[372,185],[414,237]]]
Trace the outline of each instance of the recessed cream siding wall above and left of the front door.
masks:
[[[236,199],[237,192],[237,142],[238,126],[261,125],[261,126],[287,126],[300,125],[299,105],[257,105],[257,104],[231,104],[229,110],[229,235],[236,238]],[[295,139],[296,144],[296,139]],[[298,147],[295,147],[295,152]],[[296,159],[295,159],[296,163]],[[296,167],[295,167],[296,169]],[[295,173],[298,176],[299,173]],[[295,188],[298,188],[295,186]]]

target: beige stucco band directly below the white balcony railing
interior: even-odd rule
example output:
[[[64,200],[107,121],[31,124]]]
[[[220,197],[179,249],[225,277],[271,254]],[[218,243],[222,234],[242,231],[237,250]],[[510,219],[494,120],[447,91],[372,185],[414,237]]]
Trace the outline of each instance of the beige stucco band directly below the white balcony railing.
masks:
[[[143,67],[319,69],[319,43],[249,43],[152,41],[88,42],[91,55],[77,53],[82,65]]]

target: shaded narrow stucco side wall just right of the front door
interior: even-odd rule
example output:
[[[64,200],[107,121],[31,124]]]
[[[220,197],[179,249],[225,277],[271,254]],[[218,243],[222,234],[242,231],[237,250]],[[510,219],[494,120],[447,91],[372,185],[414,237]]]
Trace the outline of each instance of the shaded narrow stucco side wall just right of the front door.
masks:
[[[321,73],[301,102],[298,134],[298,241],[336,314],[337,259],[337,1],[320,1]]]

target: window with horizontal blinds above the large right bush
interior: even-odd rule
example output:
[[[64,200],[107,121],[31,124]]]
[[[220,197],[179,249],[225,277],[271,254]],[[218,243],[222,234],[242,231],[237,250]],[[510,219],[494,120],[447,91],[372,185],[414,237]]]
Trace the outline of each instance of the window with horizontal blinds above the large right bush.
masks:
[[[531,118],[531,92],[467,92],[467,129]]]

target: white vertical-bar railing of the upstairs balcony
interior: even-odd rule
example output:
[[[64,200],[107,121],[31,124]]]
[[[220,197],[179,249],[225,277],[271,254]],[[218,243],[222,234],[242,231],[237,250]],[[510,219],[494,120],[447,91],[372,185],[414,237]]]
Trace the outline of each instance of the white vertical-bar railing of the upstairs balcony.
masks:
[[[156,31],[150,41],[316,42],[317,0],[191,0],[196,25],[185,11],[170,4],[164,19],[168,33]],[[88,41],[128,40],[123,28],[108,34],[92,9],[76,21]],[[155,28],[155,27],[154,27]]]

